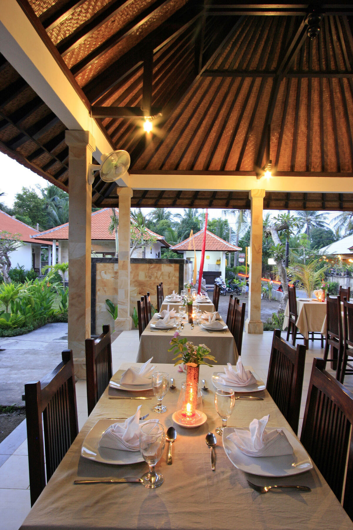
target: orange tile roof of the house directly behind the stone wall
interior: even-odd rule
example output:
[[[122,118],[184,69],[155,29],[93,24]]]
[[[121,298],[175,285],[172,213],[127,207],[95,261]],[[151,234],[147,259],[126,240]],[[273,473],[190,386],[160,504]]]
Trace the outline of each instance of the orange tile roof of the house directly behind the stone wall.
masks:
[[[119,216],[119,208],[115,208],[116,215]],[[91,239],[92,241],[98,240],[98,241],[105,241],[105,240],[115,240],[115,234],[110,233],[108,230],[108,227],[111,223],[111,208],[102,208],[101,210],[94,211],[91,216]],[[167,243],[164,240],[164,237],[162,235],[156,234],[155,232],[152,232],[148,228],[146,228],[147,232],[149,232],[152,236],[157,237],[157,240],[162,243],[165,246],[169,246],[169,243]],[[40,233],[41,237],[44,237],[48,239],[49,241],[56,239],[56,240],[68,240],[69,238],[69,223],[65,223],[65,225],[56,226],[55,228],[51,228],[50,230],[47,230],[46,232]]]

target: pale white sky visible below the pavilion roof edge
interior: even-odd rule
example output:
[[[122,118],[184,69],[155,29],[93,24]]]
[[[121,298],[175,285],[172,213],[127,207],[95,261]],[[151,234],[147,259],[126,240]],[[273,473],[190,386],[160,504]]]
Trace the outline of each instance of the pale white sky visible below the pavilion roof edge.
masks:
[[[0,167],[1,177],[0,177],[0,192],[4,192],[5,195],[0,197],[0,202],[4,202],[7,206],[12,207],[16,193],[19,193],[23,187],[33,188],[39,196],[41,196],[40,189],[46,188],[49,182],[43,179],[41,176],[33,173],[33,171],[27,169],[22,164],[19,164],[13,158],[0,152]],[[142,211],[149,213],[152,208],[142,208]],[[201,210],[201,209],[200,209]],[[170,211],[173,214],[183,214],[183,208],[170,208]],[[217,219],[222,216],[221,209],[210,208],[209,209],[209,219]],[[276,210],[266,210],[270,211],[273,215],[277,215],[278,211]],[[332,218],[336,216],[338,212],[330,212],[329,217]],[[228,219],[229,224],[235,225],[233,217]]]

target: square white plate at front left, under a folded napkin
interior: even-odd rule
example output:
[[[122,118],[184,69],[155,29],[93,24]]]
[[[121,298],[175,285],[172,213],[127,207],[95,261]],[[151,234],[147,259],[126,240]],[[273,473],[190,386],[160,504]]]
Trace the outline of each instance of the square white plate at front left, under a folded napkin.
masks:
[[[103,432],[114,423],[125,420],[98,420],[96,425],[88,432],[82,444],[81,455],[88,460],[95,460],[103,464],[127,465],[143,462],[140,451],[119,451],[119,449],[108,449],[108,447],[98,447],[98,442],[102,438]]]

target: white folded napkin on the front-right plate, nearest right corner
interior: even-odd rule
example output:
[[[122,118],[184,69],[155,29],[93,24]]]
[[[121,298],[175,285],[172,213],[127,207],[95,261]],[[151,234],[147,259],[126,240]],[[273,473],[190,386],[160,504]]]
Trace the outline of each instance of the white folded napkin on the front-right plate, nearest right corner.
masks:
[[[291,455],[293,447],[282,429],[266,431],[269,414],[260,420],[254,419],[249,430],[235,429],[227,439],[247,456]]]

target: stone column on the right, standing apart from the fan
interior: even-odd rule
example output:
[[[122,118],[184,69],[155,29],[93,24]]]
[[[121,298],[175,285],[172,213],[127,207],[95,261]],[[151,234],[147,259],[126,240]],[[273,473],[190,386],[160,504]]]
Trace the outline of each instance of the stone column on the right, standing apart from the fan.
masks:
[[[263,208],[265,190],[250,190],[250,268],[249,268],[249,317],[245,322],[247,333],[263,333],[261,322],[261,271],[263,261]]]

